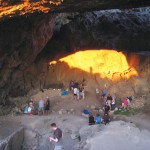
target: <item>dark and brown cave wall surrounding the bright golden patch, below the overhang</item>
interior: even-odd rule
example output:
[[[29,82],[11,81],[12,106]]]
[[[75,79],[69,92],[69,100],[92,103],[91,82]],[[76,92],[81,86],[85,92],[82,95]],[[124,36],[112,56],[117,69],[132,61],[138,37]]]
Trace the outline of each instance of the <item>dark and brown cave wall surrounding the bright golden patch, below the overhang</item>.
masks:
[[[26,94],[30,89],[68,85],[70,79],[124,86],[126,94],[149,92],[150,57],[138,55],[132,63],[131,52],[150,51],[150,7],[129,10],[103,10],[84,13],[35,14],[0,22],[0,103],[9,96]],[[116,49],[126,53],[128,62],[139,72],[138,78],[114,85],[67,64],[49,62],[78,50]],[[148,53],[147,53],[148,54]],[[129,92],[130,91],[130,92]],[[122,91],[124,93],[124,91]]]

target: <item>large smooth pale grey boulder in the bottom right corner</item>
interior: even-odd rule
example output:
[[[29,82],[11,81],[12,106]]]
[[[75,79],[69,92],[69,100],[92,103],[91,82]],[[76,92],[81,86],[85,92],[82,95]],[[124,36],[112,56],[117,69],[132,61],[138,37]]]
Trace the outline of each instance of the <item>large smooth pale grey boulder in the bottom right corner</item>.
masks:
[[[140,131],[133,124],[122,121],[111,122],[109,126],[105,126],[102,132],[95,134],[86,141],[87,145],[85,146],[85,149],[99,150],[99,147],[101,146],[102,150],[106,147],[110,150],[115,150],[118,149],[118,146],[122,146],[122,150],[130,149],[131,147],[133,149],[141,150],[144,146],[144,149],[148,150],[150,143],[146,137],[148,138],[149,136],[150,133],[148,131]],[[107,140],[111,141],[109,145]]]

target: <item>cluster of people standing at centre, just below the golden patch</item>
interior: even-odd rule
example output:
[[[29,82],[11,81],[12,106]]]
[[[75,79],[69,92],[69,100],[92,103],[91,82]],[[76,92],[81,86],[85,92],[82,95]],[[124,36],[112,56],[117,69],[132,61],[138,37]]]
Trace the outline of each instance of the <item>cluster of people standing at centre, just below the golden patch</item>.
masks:
[[[73,92],[77,100],[85,99],[85,90],[83,83],[79,84],[76,80],[70,81],[69,89]]]

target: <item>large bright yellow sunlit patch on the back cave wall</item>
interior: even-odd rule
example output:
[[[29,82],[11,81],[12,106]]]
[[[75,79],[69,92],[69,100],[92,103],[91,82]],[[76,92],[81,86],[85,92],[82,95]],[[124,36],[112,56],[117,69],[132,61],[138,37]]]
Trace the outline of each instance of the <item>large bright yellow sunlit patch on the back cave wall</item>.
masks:
[[[129,66],[125,55],[115,50],[86,50],[59,59],[70,68],[77,68],[110,80],[129,79],[138,72]],[[56,64],[56,61],[50,62]],[[57,64],[56,64],[57,65]]]

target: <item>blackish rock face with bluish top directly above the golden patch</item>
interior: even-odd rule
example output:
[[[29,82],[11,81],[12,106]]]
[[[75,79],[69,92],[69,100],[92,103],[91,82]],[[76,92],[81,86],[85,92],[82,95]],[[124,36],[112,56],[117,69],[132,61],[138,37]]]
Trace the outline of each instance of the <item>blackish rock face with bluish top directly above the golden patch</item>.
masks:
[[[60,34],[66,35],[66,42],[60,49],[76,51],[106,48],[148,51],[150,47],[149,14],[149,7],[81,13],[61,28]],[[61,38],[60,34],[60,39],[64,41],[64,37]],[[57,49],[59,49],[58,46]]]

